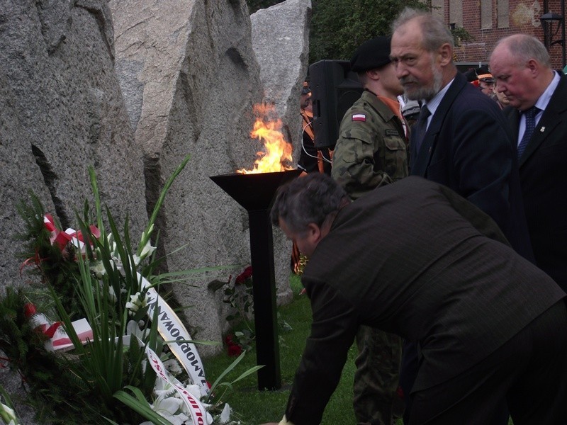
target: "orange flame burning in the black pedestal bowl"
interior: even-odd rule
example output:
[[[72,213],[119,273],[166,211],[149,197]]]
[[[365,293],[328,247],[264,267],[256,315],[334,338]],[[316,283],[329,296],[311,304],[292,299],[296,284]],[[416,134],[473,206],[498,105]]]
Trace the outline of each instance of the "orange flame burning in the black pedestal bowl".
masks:
[[[284,164],[285,162],[291,162],[293,147],[291,143],[283,139],[281,120],[279,118],[274,119],[274,106],[257,103],[254,105],[254,115],[256,115],[256,122],[254,123],[254,130],[250,132],[250,137],[264,142],[264,151],[257,152],[254,169],[240,169],[236,172],[240,174],[256,174],[293,169],[292,166]]]

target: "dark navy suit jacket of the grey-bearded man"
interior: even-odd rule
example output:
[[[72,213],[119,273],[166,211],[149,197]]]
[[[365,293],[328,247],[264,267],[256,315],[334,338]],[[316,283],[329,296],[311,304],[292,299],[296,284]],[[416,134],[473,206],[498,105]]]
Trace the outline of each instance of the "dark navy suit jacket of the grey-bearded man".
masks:
[[[444,184],[481,208],[524,258],[534,261],[522,205],[512,132],[498,104],[457,73],[420,152],[411,141],[411,174]]]

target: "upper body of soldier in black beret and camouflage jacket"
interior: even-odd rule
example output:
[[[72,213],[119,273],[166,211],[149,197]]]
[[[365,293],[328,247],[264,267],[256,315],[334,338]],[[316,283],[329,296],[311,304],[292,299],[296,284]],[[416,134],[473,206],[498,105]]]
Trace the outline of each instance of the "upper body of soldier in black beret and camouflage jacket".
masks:
[[[364,92],[344,114],[331,175],[352,199],[408,175],[408,151],[397,96],[403,87],[390,61],[390,38],[364,42],[350,64]]]

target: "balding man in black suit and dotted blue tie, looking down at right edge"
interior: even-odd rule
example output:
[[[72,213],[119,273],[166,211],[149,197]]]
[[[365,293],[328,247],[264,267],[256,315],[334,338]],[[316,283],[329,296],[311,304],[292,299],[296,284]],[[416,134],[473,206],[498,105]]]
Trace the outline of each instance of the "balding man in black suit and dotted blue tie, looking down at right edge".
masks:
[[[496,89],[510,99],[529,237],[537,266],[567,290],[567,77],[537,38],[510,35],[490,57]]]

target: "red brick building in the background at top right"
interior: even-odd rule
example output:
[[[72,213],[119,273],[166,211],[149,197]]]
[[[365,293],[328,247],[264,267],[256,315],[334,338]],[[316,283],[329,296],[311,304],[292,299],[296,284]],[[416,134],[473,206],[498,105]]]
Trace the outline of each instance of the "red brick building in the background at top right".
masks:
[[[486,63],[496,41],[505,35],[525,33],[546,45],[554,42],[549,47],[551,64],[555,69],[565,66],[565,43],[558,41],[564,37],[565,21],[552,25],[550,40],[549,32],[544,36],[539,20],[549,11],[564,16],[565,0],[429,0],[429,3],[432,13],[443,18],[447,26],[464,28],[474,38],[460,43],[457,40],[460,45],[456,47],[456,62]]]

